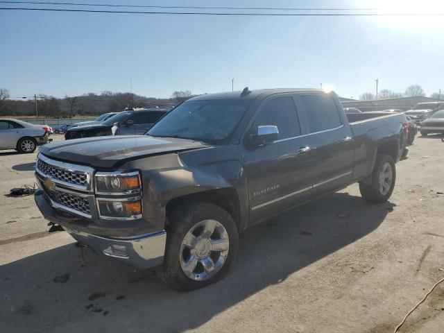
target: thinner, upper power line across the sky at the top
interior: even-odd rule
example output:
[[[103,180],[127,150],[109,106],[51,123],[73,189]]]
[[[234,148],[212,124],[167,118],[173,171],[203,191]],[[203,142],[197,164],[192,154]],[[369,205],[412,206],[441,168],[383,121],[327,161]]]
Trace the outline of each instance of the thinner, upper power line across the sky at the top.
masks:
[[[169,8],[169,9],[228,9],[228,10],[381,10],[382,8],[289,8],[289,7],[207,7],[207,6],[149,6],[113,5],[108,3],[44,2],[44,1],[0,1],[0,3],[26,3],[32,5],[63,5],[89,7],[126,7],[126,8]]]

